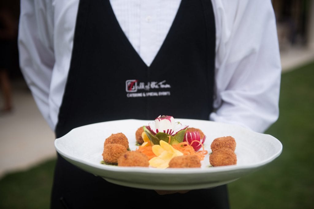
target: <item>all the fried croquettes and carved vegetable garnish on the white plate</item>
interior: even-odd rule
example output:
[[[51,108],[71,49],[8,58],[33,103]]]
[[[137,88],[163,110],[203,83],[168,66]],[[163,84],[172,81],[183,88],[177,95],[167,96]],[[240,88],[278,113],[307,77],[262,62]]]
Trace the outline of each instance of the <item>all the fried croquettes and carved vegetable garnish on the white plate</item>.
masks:
[[[209,154],[211,166],[236,165],[236,141],[232,136],[215,138],[211,152],[204,149],[206,136],[198,128],[175,122],[172,116],[159,116],[135,131],[136,150],[129,149],[123,133],[105,139],[102,164],[166,168],[200,168]]]

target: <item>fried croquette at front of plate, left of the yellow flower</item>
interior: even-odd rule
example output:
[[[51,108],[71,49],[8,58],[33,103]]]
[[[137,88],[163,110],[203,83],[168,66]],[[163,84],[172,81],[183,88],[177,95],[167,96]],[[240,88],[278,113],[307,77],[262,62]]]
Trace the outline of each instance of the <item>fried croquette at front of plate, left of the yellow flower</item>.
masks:
[[[128,151],[118,158],[118,166],[149,166],[148,157],[139,151]]]

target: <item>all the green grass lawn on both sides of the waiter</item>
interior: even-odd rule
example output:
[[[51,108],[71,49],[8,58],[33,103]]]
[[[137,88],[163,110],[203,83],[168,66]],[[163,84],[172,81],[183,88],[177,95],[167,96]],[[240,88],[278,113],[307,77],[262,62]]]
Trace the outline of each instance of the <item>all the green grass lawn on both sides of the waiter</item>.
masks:
[[[280,116],[266,133],[282,154],[229,184],[231,209],[306,209],[314,205],[314,62],[282,75]],[[0,180],[0,208],[49,208],[55,160]]]

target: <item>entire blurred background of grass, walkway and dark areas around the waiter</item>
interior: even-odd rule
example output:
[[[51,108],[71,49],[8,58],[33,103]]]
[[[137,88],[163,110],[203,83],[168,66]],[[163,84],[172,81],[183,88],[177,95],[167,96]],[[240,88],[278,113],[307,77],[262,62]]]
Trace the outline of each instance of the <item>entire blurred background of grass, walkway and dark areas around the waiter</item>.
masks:
[[[229,184],[231,208],[312,208],[314,205],[314,1],[273,0],[282,62],[280,116],[266,133],[282,154]],[[49,208],[56,152],[54,133],[38,111],[19,69],[19,1],[0,1],[9,24],[1,47],[0,208]],[[0,24],[3,33],[3,22]],[[1,37],[3,37],[1,35]],[[19,200],[19,201],[17,201]]]

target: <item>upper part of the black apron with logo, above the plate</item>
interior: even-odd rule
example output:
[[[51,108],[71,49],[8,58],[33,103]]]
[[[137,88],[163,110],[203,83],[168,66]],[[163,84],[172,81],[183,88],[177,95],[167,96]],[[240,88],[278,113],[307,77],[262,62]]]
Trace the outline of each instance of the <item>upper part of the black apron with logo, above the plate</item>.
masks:
[[[215,58],[210,4],[182,1],[148,66],[109,2],[81,3],[57,136],[89,123],[160,114],[208,120]]]

